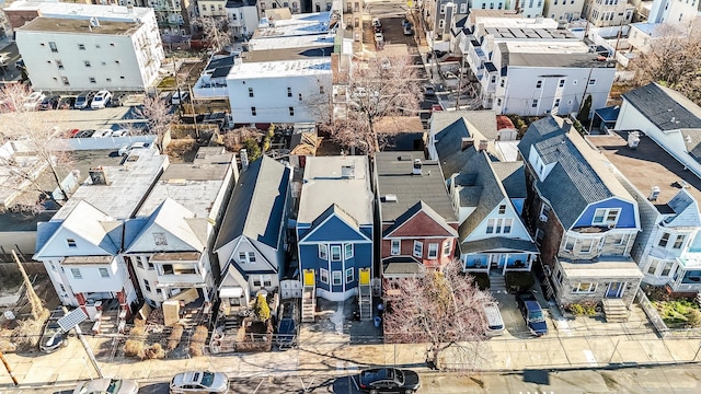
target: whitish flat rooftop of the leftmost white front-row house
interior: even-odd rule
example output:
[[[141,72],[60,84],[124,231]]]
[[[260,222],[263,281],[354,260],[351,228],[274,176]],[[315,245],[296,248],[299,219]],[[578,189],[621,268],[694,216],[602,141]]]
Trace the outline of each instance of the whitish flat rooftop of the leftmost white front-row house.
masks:
[[[115,219],[131,218],[164,167],[168,157],[156,149],[141,149],[122,164],[103,165],[108,185],[93,185],[89,174],[54,219],[66,219],[80,200],[85,200]]]

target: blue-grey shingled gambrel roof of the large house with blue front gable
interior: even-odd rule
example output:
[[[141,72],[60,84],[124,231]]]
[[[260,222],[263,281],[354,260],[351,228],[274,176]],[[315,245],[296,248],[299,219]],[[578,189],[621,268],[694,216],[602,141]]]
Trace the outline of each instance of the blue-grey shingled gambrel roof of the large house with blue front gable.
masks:
[[[570,229],[591,202],[619,196],[632,196],[606,167],[608,162],[574,129],[563,130],[564,120],[549,116],[533,121],[521,138],[518,149],[529,157],[533,146],[544,165],[553,165],[544,181],[537,181],[543,197],[550,202],[565,229]]]

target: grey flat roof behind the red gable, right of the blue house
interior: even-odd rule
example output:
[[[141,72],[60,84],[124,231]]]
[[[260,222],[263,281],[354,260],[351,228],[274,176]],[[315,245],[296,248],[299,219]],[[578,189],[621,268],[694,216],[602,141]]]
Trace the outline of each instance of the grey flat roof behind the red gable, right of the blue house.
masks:
[[[422,161],[422,174],[414,175],[414,161]],[[435,161],[425,161],[424,152],[379,152],[375,155],[377,188],[380,196],[380,212],[383,222],[398,221],[418,201],[437,212],[441,221],[456,222],[448,189]],[[395,201],[384,199],[393,195]]]

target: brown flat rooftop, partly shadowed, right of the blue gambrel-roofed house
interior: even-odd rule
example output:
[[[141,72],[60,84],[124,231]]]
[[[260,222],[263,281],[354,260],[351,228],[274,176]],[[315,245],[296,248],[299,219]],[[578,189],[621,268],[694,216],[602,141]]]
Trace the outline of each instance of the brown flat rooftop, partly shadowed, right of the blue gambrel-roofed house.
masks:
[[[667,202],[679,193],[680,181],[686,182],[686,190],[701,201],[701,179],[698,176],[685,171],[683,164],[644,134],[640,135],[637,149],[628,148],[627,138],[628,131],[587,137],[641,195],[647,197],[654,186],[659,187],[655,206],[660,212],[669,211]]]

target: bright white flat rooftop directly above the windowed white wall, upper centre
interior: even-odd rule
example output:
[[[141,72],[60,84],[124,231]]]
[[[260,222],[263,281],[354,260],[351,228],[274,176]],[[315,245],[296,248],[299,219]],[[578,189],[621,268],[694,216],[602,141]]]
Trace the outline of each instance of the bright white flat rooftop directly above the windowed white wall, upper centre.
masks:
[[[268,62],[244,62],[229,71],[227,80],[331,74],[331,57]]]

